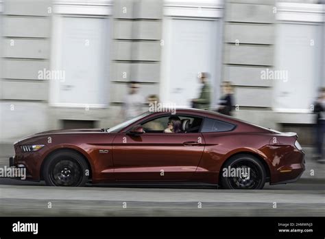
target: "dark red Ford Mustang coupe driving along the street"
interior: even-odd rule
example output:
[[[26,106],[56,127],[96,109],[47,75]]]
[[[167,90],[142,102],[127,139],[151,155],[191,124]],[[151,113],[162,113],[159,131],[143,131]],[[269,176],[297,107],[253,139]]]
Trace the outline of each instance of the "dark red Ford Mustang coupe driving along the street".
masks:
[[[179,133],[165,133],[171,119]],[[297,181],[304,151],[281,133],[214,111],[145,112],[112,128],[50,130],[14,143],[10,166],[50,186],[210,185],[262,189]]]

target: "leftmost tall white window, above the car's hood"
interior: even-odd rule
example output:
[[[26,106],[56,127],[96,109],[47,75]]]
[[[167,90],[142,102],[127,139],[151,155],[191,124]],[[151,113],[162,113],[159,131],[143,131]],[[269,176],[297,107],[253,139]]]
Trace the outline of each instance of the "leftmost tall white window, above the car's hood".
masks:
[[[58,6],[53,16],[51,104],[106,106],[109,82],[108,6]],[[56,72],[57,73],[57,72]]]

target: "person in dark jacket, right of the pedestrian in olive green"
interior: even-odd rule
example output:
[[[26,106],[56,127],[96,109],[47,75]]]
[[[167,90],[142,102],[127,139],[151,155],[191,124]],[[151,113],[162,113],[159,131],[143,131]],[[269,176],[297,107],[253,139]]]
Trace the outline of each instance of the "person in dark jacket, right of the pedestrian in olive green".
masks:
[[[223,95],[219,100],[218,112],[223,115],[231,115],[233,98],[232,84],[230,81],[224,81],[222,84]]]

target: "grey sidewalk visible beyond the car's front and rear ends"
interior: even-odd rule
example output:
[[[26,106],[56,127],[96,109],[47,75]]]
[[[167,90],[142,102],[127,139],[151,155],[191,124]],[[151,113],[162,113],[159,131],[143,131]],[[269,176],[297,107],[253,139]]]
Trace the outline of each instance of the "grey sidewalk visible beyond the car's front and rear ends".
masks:
[[[325,163],[318,163],[312,158],[313,147],[302,146],[302,148],[306,152],[306,170],[299,180],[300,183],[325,183]],[[12,144],[0,144],[0,166],[8,165],[8,159],[13,155],[14,147]]]

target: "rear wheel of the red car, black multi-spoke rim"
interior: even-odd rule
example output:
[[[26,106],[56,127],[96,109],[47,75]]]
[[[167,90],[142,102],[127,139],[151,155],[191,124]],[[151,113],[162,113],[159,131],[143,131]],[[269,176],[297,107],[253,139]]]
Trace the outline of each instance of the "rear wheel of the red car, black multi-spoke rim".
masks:
[[[240,170],[237,170],[240,168]],[[229,170],[230,169],[230,170]],[[226,174],[226,172],[239,173]],[[221,186],[225,189],[261,190],[266,181],[263,164],[252,155],[235,155],[226,161],[220,171]]]

